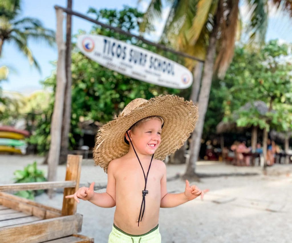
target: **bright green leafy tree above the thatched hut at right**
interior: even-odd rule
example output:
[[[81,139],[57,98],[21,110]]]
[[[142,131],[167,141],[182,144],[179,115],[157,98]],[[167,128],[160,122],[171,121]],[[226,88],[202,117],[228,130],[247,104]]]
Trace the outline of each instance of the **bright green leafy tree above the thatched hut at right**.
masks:
[[[268,131],[287,132],[292,129],[292,60],[289,48],[291,52],[291,45],[280,45],[277,40],[272,40],[258,50],[245,46],[236,49],[221,88],[226,95],[225,120],[234,120],[238,126],[267,128]],[[265,114],[254,107],[240,109],[244,104],[257,100],[267,104]]]

